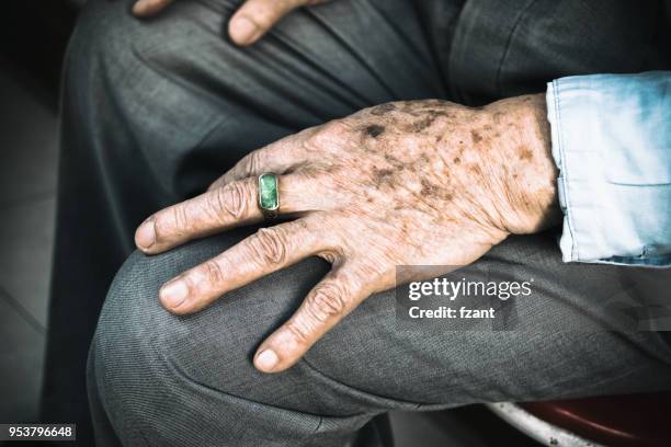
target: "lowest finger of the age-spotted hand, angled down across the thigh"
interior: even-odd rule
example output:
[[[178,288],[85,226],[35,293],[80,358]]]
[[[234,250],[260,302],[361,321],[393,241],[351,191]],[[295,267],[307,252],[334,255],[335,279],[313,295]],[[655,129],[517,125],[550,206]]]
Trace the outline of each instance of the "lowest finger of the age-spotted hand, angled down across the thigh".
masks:
[[[351,268],[351,267],[350,267]],[[254,366],[280,373],[294,364],[331,328],[371,294],[366,278],[346,265],[332,271],[305,298],[294,316],[257,351]]]

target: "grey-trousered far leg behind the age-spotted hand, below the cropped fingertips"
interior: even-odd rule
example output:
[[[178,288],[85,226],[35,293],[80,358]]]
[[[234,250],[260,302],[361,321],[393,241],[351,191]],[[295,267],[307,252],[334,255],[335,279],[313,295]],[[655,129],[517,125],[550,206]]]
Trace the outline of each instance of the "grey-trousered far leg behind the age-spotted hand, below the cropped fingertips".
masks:
[[[224,35],[239,0],[175,2],[147,22],[130,3],[88,2],[65,70],[44,419],[78,422],[84,438],[86,353],[143,218],[285,135],[442,94],[405,0],[297,11],[249,49]]]

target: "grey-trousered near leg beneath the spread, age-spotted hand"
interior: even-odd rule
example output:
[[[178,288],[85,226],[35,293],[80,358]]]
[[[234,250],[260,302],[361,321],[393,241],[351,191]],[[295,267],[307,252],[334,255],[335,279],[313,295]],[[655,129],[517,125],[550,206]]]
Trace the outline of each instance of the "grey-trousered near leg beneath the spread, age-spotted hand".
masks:
[[[244,233],[153,257],[136,253],[114,280],[91,348],[89,387],[96,419],[109,417],[124,445],[342,446],[390,409],[671,388],[671,349],[655,332],[399,331],[393,291],[366,300],[294,368],[260,374],[254,348],[328,264],[306,260],[185,318],[157,298],[164,280]],[[514,265],[535,277],[537,299],[511,305],[546,325],[582,318],[603,284],[621,276],[617,267],[562,264],[548,234],[513,238],[478,265]]]

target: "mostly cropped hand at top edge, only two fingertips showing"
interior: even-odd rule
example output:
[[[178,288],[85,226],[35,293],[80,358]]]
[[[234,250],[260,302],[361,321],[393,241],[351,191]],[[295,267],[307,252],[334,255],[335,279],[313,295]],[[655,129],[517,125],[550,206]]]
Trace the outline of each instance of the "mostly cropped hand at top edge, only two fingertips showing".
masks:
[[[133,13],[149,18],[163,11],[175,0],[137,0]],[[300,7],[329,0],[247,0],[228,23],[228,34],[238,45],[251,45],[270,31],[280,20]]]

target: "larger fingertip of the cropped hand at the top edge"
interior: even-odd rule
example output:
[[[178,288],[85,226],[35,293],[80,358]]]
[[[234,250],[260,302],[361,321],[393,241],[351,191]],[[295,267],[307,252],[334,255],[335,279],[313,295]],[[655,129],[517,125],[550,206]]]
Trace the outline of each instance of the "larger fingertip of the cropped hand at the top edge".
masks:
[[[238,45],[251,45],[305,0],[247,0],[228,24],[228,34]]]

